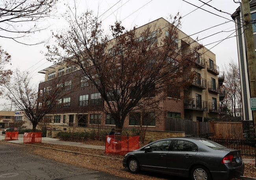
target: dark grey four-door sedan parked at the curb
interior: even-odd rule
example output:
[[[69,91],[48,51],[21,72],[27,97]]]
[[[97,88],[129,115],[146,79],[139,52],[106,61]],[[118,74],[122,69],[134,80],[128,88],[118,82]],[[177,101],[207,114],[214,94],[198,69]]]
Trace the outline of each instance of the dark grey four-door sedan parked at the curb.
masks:
[[[157,140],[127,153],[122,164],[131,173],[152,171],[191,180],[236,178],[245,169],[240,150],[195,137]]]

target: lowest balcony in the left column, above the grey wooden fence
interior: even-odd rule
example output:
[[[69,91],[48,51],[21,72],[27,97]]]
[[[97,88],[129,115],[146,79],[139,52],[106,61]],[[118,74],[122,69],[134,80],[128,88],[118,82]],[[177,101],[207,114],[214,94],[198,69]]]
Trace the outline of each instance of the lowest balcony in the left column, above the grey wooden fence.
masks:
[[[184,109],[207,111],[207,101],[197,100],[195,98],[184,99]]]

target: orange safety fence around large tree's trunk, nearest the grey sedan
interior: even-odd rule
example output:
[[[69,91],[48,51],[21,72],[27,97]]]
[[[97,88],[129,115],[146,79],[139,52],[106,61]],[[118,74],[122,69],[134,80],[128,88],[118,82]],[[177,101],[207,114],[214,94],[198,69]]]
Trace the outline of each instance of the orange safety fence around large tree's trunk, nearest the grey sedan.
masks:
[[[121,141],[115,139],[115,135],[106,136],[105,153],[125,155],[130,151],[139,149],[139,136],[128,138],[121,136]]]

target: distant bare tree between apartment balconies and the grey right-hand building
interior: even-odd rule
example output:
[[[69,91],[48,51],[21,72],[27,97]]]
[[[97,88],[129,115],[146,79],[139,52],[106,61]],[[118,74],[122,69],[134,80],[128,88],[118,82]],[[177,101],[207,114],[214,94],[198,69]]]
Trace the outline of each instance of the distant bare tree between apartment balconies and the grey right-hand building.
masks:
[[[225,80],[224,89],[226,96],[223,100],[223,104],[228,107],[228,113],[230,116],[236,117],[236,108],[241,111],[242,109],[242,94],[241,94],[241,81],[239,74],[239,66],[231,60],[227,65],[224,65]],[[241,113],[241,112],[240,112]]]

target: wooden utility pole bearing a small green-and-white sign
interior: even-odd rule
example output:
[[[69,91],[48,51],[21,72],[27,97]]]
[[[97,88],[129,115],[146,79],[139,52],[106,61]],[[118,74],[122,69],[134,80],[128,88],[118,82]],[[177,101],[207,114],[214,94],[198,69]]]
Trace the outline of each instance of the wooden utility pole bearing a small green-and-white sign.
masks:
[[[250,3],[249,0],[241,0],[241,6],[245,28],[245,41],[247,50],[247,64],[249,73],[249,85],[250,85],[250,97],[256,98],[256,56],[254,47],[254,37],[252,30],[252,18],[250,15]],[[252,111],[254,138],[256,135],[256,111]]]

